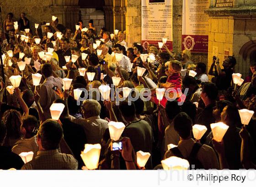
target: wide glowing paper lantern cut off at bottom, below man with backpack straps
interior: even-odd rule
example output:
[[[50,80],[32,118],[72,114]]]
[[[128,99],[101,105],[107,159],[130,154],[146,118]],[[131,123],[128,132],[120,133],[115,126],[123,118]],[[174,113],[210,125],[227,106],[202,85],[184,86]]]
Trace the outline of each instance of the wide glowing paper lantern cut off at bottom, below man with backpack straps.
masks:
[[[189,168],[189,162],[186,159],[176,156],[161,161],[161,164],[164,170],[187,170]]]

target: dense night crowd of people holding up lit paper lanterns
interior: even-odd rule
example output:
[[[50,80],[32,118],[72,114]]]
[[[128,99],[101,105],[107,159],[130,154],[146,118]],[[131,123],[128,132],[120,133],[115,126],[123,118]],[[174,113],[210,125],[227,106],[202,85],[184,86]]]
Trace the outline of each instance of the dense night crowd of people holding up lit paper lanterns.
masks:
[[[76,25],[66,28],[56,18],[41,22],[32,33],[25,13],[17,22],[8,14],[0,37],[0,169],[88,169],[81,157],[85,144],[101,145],[99,170],[162,169],[161,161],[171,156],[185,158],[197,169],[256,168],[256,115],[245,126],[239,114],[239,109],[256,111],[255,61],[250,76],[234,86],[235,57],[224,62],[213,57],[207,71],[207,62],[193,62],[188,50],[179,54],[152,44],[144,49],[139,41],[128,48],[125,31],[111,34],[101,28],[98,33],[92,20],[88,28],[83,21]],[[19,62],[26,62],[24,70]],[[143,75],[139,68],[145,69]],[[43,75],[39,86],[33,84],[35,73]],[[95,73],[93,80],[87,73]],[[19,75],[21,83],[15,86],[10,79]],[[117,105],[93,96],[77,104],[75,89],[89,92],[112,85],[113,77],[120,78],[116,88],[150,89],[150,100],[123,99]],[[69,89],[63,89],[64,78],[72,79]],[[167,95],[176,94],[176,99],[158,100],[157,88],[173,88]],[[64,104],[58,120],[52,119],[52,104]],[[125,125],[120,150],[112,149],[110,121]],[[221,141],[211,129],[217,122],[229,127]],[[195,124],[207,128],[200,140],[193,135]],[[30,151],[29,162],[19,156]],[[150,153],[145,166],[137,163],[138,151]]]

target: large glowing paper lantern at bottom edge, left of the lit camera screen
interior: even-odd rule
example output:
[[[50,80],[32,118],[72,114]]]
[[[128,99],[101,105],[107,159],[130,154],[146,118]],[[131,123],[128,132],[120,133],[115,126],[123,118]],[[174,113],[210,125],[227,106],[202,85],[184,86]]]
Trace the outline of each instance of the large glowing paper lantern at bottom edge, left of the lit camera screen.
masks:
[[[85,166],[89,170],[94,170],[98,167],[99,158],[101,154],[101,145],[100,144],[85,144],[85,150],[81,151],[82,160],[85,163]]]

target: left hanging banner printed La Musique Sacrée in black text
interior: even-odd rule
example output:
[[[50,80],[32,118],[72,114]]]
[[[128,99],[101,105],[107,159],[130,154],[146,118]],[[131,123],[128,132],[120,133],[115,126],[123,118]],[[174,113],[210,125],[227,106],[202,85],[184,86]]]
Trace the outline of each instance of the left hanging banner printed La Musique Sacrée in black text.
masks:
[[[172,50],[172,0],[141,0],[141,45],[159,46],[168,38],[165,46]],[[165,42],[165,41],[164,41]]]

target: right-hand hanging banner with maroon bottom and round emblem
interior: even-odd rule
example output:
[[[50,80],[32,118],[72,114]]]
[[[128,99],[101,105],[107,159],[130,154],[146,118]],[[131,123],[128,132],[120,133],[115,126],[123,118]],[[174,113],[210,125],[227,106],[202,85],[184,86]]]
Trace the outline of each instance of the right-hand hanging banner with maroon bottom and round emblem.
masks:
[[[208,0],[183,0],[182,50],[208,52]]]

